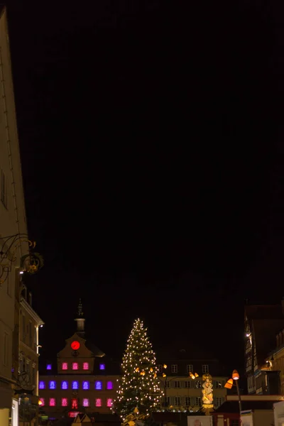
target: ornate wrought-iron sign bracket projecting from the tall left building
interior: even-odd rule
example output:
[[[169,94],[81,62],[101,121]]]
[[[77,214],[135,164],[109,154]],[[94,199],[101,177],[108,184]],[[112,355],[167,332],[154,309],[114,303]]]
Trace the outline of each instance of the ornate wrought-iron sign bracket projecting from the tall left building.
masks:
[[[21,256],[20,267],[23,272],[33,274],[38,272],[43,267],[43,256],[40,253],[35,253],[35,241],[28,239],[27,234],[15,234],[10,236],[0,237],[2,243],[0,249],[0,285],[3,284],[9,277],[12,270],[12,264],[16,262],[18,249],[21,244],[28,244],[28,253]]]

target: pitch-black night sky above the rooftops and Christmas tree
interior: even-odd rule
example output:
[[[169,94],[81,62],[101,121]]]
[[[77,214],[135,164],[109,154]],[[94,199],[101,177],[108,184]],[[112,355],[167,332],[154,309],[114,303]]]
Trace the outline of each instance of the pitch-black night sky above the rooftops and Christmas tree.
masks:
[[[139,316],[156,351],[185,340],[243,364],[244,300],[284,293],[281,8],[11,3],[43,356],[82,297],[109,355]]]

